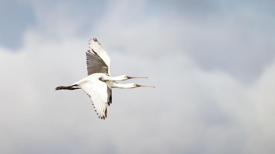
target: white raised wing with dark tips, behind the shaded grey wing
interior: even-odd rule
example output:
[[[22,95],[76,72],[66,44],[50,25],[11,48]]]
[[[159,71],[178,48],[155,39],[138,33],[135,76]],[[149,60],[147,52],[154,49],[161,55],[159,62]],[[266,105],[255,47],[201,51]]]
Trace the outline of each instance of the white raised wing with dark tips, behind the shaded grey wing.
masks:
[[[105,64],[108,66],[108,74],[110,75],[110,63],[111,59],[108,56],[107,52],[105,49],[101,46],[101,44],[98,42],[96,38],[93,40],[89,40],[89,50],[90,52],[92,49],[99,55],[99,57],[105,62]]]

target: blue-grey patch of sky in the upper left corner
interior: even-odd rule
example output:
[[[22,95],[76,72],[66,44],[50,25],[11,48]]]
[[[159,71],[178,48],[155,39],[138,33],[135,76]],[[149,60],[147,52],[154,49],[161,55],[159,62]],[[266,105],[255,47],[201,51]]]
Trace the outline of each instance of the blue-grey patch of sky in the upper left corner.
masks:
[[[31,5],[19,1],[0,1],[0,46],[17,49],[24,30],[35,24]]]

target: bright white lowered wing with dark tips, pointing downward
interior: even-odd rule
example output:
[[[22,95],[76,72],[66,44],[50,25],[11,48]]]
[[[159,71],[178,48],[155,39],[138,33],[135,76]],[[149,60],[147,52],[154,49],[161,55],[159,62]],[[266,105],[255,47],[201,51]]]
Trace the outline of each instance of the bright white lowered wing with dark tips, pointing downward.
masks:
[[[98,117],[101,119],[107,118],[107,106],[111,94],[106,82],[94,80],[93,82],[80,82],[78,85],[90,97]]]

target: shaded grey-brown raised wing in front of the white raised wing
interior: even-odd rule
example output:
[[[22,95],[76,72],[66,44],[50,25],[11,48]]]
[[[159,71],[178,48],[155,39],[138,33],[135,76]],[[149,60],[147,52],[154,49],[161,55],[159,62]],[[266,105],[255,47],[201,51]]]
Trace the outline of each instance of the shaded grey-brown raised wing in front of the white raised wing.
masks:
[[[86,52],[86,57],[88,75],[91,75],[93,73],[108,74],[108,66],[106,65],[106,63],[104,63],[104,61],[99,57],[97,53],[92,53],[91,51],[88,51],[88,53]]]

